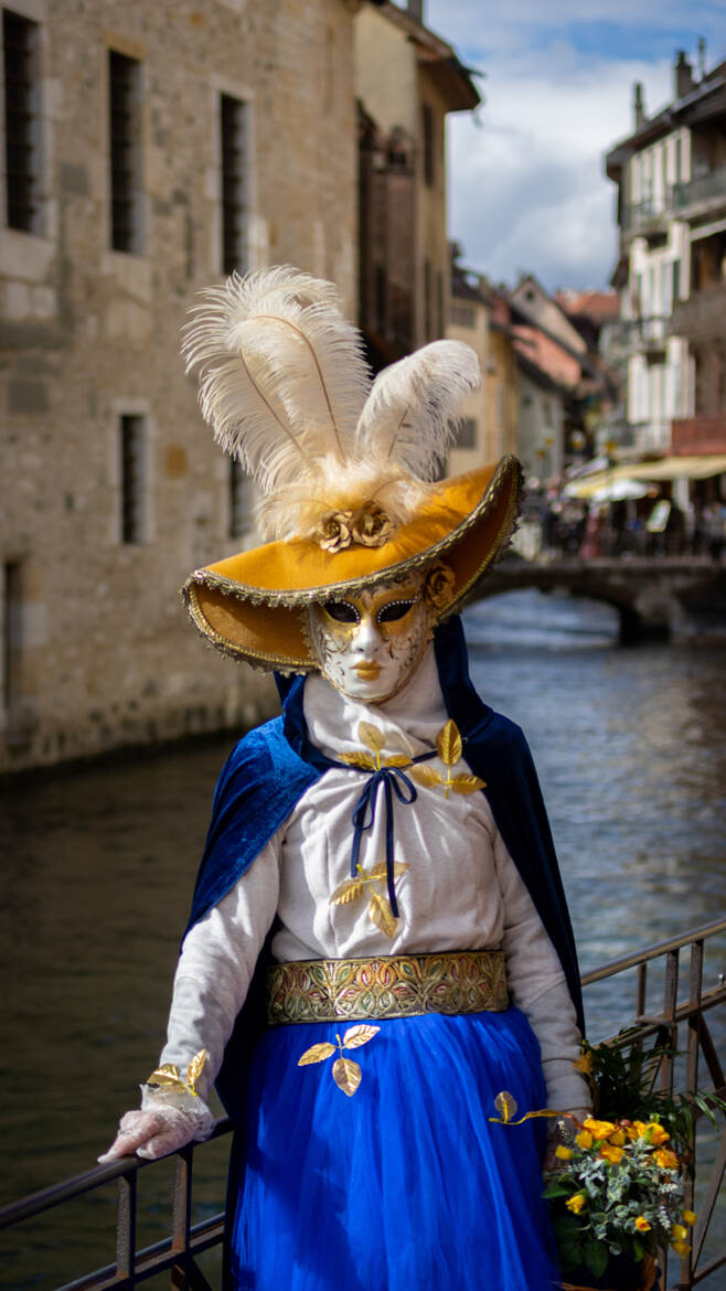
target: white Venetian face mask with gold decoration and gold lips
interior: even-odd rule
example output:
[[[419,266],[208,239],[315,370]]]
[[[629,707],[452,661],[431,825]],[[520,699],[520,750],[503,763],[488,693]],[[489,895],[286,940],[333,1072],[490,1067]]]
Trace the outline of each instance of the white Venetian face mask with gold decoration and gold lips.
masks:
[[[433,622],[421,576],[313,605],[309,612],[320,673],[337,691],[367,704],[382,704],[407,684]]]

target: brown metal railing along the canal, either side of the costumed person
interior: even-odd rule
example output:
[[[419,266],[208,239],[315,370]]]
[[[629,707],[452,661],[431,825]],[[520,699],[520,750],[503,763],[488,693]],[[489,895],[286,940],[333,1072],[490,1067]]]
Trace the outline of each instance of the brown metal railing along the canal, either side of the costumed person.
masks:
[[[705,942],[717,936],[726,935],[726,919],[694,928],[679,937],[658,945],[637,950],[630,955],[612,959],[610,963],[583,976],[583,986],[594,985],[614,977],[616,973],[636,970],[636,1001],[634,1001],[634,1032],[629,1039],[647,1041],[656,1037],[669,1042],[669,1048],[678,1047],[678,1028],[687,1029],[687,1042],[685,1046],[685,1083],[679,1092],[692,1092],[699,1087],[699,1059],[703,1057],[713,1092],[720,1097],[726,1097],[726,1078],[721,1059],[717,1053],[707,1017],[717,1006],[726,1004],[726,984],[723,975],[716,985],[704,990],[704,950]],[[678,1001],[678,979],[681,971],[681,953],[690,950],[689,963],[689,994],[686,999]],[[648,970],[658,961],[661,961],[663,980],[661,998],[663,1007],[655,1012],[648,1008],[648,994],[652,994],[652,973]],[[650,989],[648,989],[650,988]],[[608,1037],[603,1043],[616,1043],[617,1037]],[[664,1090],[674,1088],[676,1064],[673,1057],[665,1056],[661,1060],[660,1082]],[[217,1122],[213,1139],[227,1135],[231,1124],[227,1119]],[[0,1210],[0,1228],[19,1224],[34,1215],[40,1215],[54,1206],[61,1206],[74,1198],[81,1197],[93,1189],[102,1188],[114,1180],[118,1186],[118,1221],[116,1221],[116,1260],[102,1269],[96,1269],[85,1277],[74,1282],[67,1282],[58,1291],[133,1291],[150,1278],[160,1273],[171,1274],[171,1286],[174,1291],[212,1291],[209,1282],[196,1263],[196,1256],[223,1241],[225,1215],[214,1215],[203,1223],[191,1224],[192,1202],[192,1166],[194,1157],[204,1150],[204,1144],[190,1145],[174,1154],[174,1185],[172,1199],[172,1215],[169,1235],[165,1241],[143,1250],[137,1250],[137,1176],[142,1170],[150,1170],[155,1162],[142,1162],[138,1158],[127,1158],[109,1166],[98,1166],[74,1179],[67,1179],[53,1188],[34,1193],[23,1201],[14,1202]],[[707,1234],[718,1199],[718,1192],[726,1171],[726,1127],[721,1136],[721,1143],[716,1153],[716,1159],[710,1168],[704,1198],[700,1203],[699,1220],[694,1229],[692,1251],[681,1261],[679,1278],[670,1285],[669,1291],[692,1291],[692,1288],[705,1281],[717,1269],[726,1265],[726,1238],[723,1250],[703,1264],[703,1250]],[[686,1206],[692,1207],[694,1184],[686,1184]],[[664,1265],[664,1286],[667,1285],[667,1256],[661,1260]]]

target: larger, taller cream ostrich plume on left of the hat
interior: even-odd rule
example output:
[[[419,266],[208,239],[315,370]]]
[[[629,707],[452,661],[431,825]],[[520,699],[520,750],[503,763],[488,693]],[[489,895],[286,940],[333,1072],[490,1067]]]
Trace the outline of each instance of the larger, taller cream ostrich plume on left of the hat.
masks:
[[[187,372],[214,438],[262,493],[345,462],[369,390],[358,330],[332,283],[289,266],[233,275],[203,293],[185,328]]]

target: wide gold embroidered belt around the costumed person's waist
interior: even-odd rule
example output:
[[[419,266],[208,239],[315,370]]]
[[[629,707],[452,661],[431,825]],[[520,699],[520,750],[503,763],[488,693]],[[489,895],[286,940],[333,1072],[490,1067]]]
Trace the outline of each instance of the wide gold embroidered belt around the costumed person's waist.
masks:
[[[509,1008],[503,950],[300,959],[267,971],[267,1022],[335,1022]]]

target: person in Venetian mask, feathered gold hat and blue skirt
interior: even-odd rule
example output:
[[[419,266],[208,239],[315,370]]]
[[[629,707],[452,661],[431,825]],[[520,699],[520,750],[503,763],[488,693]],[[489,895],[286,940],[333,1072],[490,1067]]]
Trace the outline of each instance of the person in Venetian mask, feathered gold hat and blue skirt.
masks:
[[[283,717],[222,771],[161,1066],[103,1159],[204,1139],[216,1079],[230,1287],[545,1291],[546,1130],[491,1118],[501,1091],[586,1106],[579,977],[526,742],[456,617],[519,466],[437,483],[474,352],[434,342],[371,385],[335,288],[296,270],[208,292],[186,354],[266,541],[185,596],[275,670]]]

